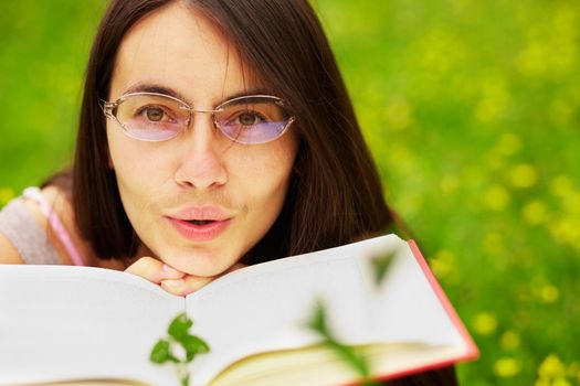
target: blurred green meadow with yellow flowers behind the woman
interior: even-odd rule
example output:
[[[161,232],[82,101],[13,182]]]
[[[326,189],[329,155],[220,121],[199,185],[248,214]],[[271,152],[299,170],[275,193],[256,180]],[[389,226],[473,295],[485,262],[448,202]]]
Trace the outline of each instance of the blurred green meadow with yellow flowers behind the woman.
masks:
[[[580,385],[580,2],[313,0],[386,195],[481,349],[463,385]],[[0,13],[0,206],[71,160],[103,0]]]

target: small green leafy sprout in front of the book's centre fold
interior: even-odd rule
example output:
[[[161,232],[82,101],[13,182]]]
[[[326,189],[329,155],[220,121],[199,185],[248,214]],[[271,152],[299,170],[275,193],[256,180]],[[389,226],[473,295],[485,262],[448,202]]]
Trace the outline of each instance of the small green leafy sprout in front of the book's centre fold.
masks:
[[[210,351],[202,339],[189,333],[192,325],[193,321],[184,312],[178,314],[167,329],[168,336],[157,341],[149,355],[152,363],[172,363],[177,367],[181,386],[189,385],[188,364],[196,355]]]

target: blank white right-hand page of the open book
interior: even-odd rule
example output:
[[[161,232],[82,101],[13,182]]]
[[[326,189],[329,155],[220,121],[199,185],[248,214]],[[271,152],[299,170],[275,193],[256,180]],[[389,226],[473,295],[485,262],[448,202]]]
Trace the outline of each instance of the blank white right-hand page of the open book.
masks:
[[[377,290],[369,258],[390,250],[398,250],[396,261]],[[316,299],[345,343],[442,343],[456,337],[408,244],[389,235],[247,267],[190,296],[192,330],[211,347],[193,362],[193,384],[208,383],[252,353],[319,341],[305,326]]]

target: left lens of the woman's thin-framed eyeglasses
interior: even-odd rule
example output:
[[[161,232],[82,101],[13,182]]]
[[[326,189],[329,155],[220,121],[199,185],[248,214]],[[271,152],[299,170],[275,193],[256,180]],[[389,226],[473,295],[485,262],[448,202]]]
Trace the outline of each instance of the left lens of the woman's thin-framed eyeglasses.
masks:
[[[123,99],[116,117],[129,137],[162,141],[173,138],[188,126],[189,111],[187,106],[170,97],[135,94]]]

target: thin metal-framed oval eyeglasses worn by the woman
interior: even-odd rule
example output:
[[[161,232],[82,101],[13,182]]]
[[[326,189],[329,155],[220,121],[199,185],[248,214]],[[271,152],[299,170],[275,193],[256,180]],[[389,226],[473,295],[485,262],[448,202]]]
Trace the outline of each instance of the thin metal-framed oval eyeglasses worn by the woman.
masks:
[[[211,114],[213,125],[232,141],[266,143],[280,138],[295,117],[284,100],[270,95],[229,99],[212,110],[197,110],[165,94],[130,93],[115,101],[103,101],[103,111],[130,138],[165,141],[189,127],[193,112]]]

